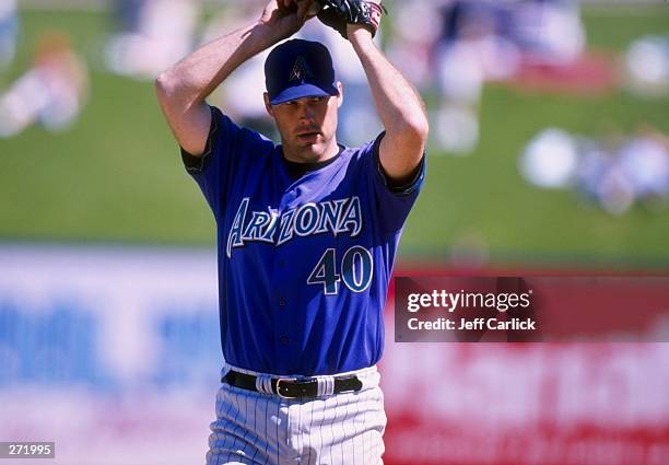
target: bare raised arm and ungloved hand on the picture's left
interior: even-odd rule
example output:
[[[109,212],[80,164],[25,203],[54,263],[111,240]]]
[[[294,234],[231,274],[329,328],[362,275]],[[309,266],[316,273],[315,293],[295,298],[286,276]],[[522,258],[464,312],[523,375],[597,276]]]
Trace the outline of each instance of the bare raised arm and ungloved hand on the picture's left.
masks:
[[[211,112],[204,98],[244,61],[297,32],[312,2],[272,0],[256,23],[200,47],[157,78],[159,102],[187,152],[200,155],[207,144]]]

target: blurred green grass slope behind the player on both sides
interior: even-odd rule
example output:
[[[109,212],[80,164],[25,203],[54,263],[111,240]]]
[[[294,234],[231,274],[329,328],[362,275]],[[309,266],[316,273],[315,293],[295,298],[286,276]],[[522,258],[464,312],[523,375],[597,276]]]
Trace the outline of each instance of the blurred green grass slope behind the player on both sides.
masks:
[[[39,33],[58,26],[87,58],[92,94],[67,133],[33,127],[0,140],[0,237],[213,244],[213,220],[183,171],[152,84],[102,70],[106,16],[74,11],[21,16],[19,56],[0,74],[0,89],[30,65]],[[586,9],[585,21],[590,45],[621,49],[641,35],[666,33],[669,8]],[[641,100],[624,91],[575,98],[488,88],[477,152],[431,153],[401,257],[446,260],[454,241],[478,231],[497,264],[666,267],[669,210],[635,208],[614,218],[579,205],[572,193],[529,186],[516,166],[524,144],[547,126],[596,136],[607,128],[631,132],[647,121],[669,132],[668,115],[669,98]]]

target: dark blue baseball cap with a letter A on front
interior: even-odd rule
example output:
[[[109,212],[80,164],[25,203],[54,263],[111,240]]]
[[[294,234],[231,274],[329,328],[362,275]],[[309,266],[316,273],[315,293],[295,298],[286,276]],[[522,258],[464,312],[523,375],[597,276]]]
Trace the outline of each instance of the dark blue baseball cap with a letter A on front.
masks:
[[[284,42],[269,54],[265,84],[272,105],[339,93],[330,51],[318,42],[300,38]]]

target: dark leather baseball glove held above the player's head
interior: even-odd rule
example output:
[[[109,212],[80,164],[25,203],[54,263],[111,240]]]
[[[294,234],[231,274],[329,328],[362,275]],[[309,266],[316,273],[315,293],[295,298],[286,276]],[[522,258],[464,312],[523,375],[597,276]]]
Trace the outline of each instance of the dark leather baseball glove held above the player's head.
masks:
[[[332,27],[343,38],[347,36],[347,24],[362,24],[372,36],[376,35],[378,24],[386,9],[371,0],[316,0],[322,7],[318,12],[321,23]]]

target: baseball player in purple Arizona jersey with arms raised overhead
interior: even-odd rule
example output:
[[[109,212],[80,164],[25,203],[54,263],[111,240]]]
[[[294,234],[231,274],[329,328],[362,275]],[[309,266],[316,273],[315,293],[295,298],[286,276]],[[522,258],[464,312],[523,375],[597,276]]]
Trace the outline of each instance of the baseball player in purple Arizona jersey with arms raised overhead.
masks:
[[[336,138],[344,93],[328,49],[282,42],[320,5],[318,18],[360,58],[385,128],[359,148]],[[372,40],[380,15],[379,2],[271,1],[257,22],[156,81],[218,225],[225,364],[210,465],[382,463],[383,310],[424,178],[427,120],[418,93]],[[204,98],[279,43],[265,63],[265,104],[281,136],[274,144]]]

